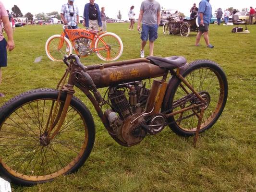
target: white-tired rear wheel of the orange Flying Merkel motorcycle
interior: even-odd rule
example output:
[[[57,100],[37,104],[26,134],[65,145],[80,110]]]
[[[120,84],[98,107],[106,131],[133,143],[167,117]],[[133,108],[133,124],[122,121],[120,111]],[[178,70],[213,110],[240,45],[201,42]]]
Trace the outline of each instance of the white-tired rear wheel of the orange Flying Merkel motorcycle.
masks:
[[[104,33],[95,41],[94,48],[101,60],[118,60],[123,51],[122,40],[114,33]]]

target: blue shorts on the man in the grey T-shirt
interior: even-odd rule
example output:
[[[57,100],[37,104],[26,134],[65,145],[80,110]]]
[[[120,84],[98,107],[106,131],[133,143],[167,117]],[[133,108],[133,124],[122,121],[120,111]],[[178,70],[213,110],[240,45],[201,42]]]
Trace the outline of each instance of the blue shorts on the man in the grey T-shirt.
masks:
[[[141,31],[141,40],[147,41],[148,36],[149,36],[149,41],[155,41],[158,38],[158,24],[154,25],[147,25],[147,24],[142,24],[141,26],[142,31]]]

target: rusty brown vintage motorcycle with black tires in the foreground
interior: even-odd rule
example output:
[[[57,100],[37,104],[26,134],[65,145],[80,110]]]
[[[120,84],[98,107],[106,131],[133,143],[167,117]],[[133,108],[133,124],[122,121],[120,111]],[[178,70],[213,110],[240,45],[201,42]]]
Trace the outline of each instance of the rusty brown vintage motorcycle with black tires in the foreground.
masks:
[[[110,136],[126,147],[167,125],[179,135],[195,135],[195,144],[198,133],[219,119],[228,96],[225,73],[210,60],[152,56],[84,66],[70,55],[63,61],[67,69],[57,89],[25,92],[0,108],[0,175],[13,183],[46,182],[85,163],[95,124],[73,96],[74,86]]]

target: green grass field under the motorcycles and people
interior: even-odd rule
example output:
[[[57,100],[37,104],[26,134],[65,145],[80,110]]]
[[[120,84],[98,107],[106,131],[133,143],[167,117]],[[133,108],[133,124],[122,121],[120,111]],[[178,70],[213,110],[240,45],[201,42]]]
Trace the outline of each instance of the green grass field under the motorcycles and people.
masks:
[[[245,26],[244,26],[245,27]],[[91,110],[96,124],[96,142],[85,165],[75,174],[37,185],[19,187],[14,192],[255,192],[256,191],[256,25],[250,34],[232,34],[232,26],[211,24],[206,48],[195,47],[196,33],[188,37],[163,35],[159,27],[155,56],[184,56],[189,62],[213,60],[225,71],[229,82],[226,108],[217,123],[193,138],[184,138],[166,127],[156,136],[125,148],[106,132],[96,111],[77,90],[76,96]],[[124,50],[119,60],[139,57],[140,36],[128,31],[128,24],[108,24],[108,31],[122,38]],[[50,61],[45,42],[61,33],[61,25],[16,28],[15,49],[3,68],[0,106],[24,91],[55,88],[65,65]],[[148,55],[148,45],[146,46]],[[43,56],[39,63],[35,58]],[[83,58],[85,65],[102,63],[98,57]]]

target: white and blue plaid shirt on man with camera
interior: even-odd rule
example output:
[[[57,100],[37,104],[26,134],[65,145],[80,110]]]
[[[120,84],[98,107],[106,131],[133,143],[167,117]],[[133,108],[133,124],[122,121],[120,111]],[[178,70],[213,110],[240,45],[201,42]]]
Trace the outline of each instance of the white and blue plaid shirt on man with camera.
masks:
[[[74,15],[70,16],[69,13],[73,12]],[[76,5],[70,5],[68,3],[65,3],[61,7],[61,13],[64,15],[65,20],[68,22],[71,26],[76,26],[76,16],[79,15],[78,8]]]

